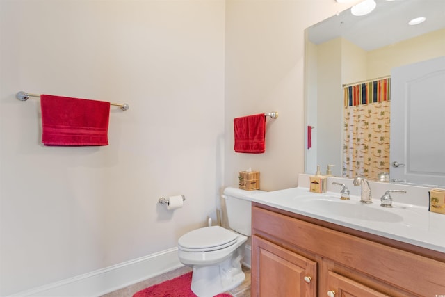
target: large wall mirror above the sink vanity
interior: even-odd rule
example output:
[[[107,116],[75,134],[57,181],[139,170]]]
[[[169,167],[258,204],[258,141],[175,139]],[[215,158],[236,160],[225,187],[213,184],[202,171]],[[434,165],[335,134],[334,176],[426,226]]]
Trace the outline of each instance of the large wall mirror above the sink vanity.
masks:
[[[445,105],[445,1],[443,0],[375,0],[377,6],[368,15],[354,16],[350,9],[325,19],[306,29],[305,43],[305,117],[307,125],[305,143],[305,172],[314,174],[316,166],[321,166],[324,174],[327,165],[333,165],[332,175],[341,177],[354,177],[360,173],[355,172],[354,166],[366,170],[364,175],[371,179],[378,179],[382,172],[389,173],[391,182],[407,182],[412,184],[424,184],[433,186],[445,186],[445,124],[443,116],[437,118],[437,122],[430,120],[428,125],[434,129],[421,129],[423,141],[437,139],[439,143],[432,143],[431,147],[437,149],[425,150],[429,155],[437,154],[433,158],[436,168],[423,169],[419,160],[423,156],[415,155],[418,160],[415,164],[400,159],[398,168],[394,167],[394,156],[391,156],[391,146],[398,150],[414,151],[406,147],[410,141],[397,140],[396,145],[391,144],[391,127],[407,127],[410,122],[401,123],[393,117],[391,105],[393,104],[394,73],[404,71],[407,65],[416,65],[424,61],[440,63],[441,66],[434,70],[438,73],[429,83],[435,83],[432,93],[426,93],[428,98],[439,97],[437,102],[428,102],[433,110],[442,109]],[[409,25],[410,20],[417,17],[426,17],[426,20],[418,25]],[[437,59],[437,60],[435,60]],[[431,63],[430,63],[431,64]],[[430,75],[430,74],[428,74]],[[427,76],[428,76],[427,75]],[[348,99],[350,94],[346,90],[360,88],[360,104],[364,107],[361,114],[350,115],[348,118]],[[399,83],[400,84],[400,83]],[[437,86],[439,85],[439,86]],[[367,87],[369,86],[369,87]],[[377,88],[378,86],[378,88]],[[387,96],[382,95],[382,90]],[[371,95],[369,93],[371,92]],[[367,95],[364,95],[364,94]],[[378,93],[378,97],[375,97]],[[361,97],[363,95],[363,97]],[[364,97],[366,99],[364,99]],[[377,103],[378,110],[371,110]],[[353,97],[355,98],[355,97]],[[362,102],[362,99],[364,100]],[[386,105],[387,106],[386,106]],[[414,105],[415,106],[415,105]],[[358,110],[358,107],[350,106]],[[386,111],[385,109],[389,109]],[[410,106],[408,106],[410,108]],[[411,106],[413,108],[413,106]],[[356,112],[354,111],[354,112]],[[427,111],[428,112],[428,111]],[[428,113],[427,113],[428,114]],[[431,114],[431,113],[430,113]],[[364,120],[366,118],[366,120]],[[361,120],[360,120],[361,119]],[[396,122],[394,122],[396,121]],[[407,119],[405,119],[407,121]],[[356,122],[356,124],[355,124]],[[414,124],[412,124],[414,125]],[[419,127],[419,123],[416,123]],[[349,132],[346,130],[350,129]],[[357,130],[358,129],[358,130]],[[366,129],[362,131],[359,129]],[[391,131],[394,133],[394,131]],[[385,134],[386,133],[386,134]],[[352,148],[346,143],[348,134],[353,138],[352,143],[370,142],[359,148]],[[442,134],[442,135],[441,135]],[[395,137],[392,137],[395,141]],[[423,148],[428,143],[423,144]],[[423,151],[422,146],[416,150],[416,154]],[[351,158],[360,156],[361,161]],[[370,153],[371,156],[362,156]],[[376,159],[380,157],[380,159]],[[412,153],[414,156],[414,153]],[[411,157],[412,157],[411,156]],[[409,158],[408,158],[409,159]],[[348,163],[349,162],[349,163]],[[442,163],[441,163],[442,162]],[[353,163],[353,166],[350,166]],[[408,163],[408,164],[405,164]],[[439,164],[439,166],[437,166]],[[372,168],[373,165],[373,169]],[[438,168],[438,169],[437,169]],[[358,169],[357,169],[358,170]],[[395,178],[399,171],[420,170],[428,172],[427,177],[410,176],[409,179]]]

